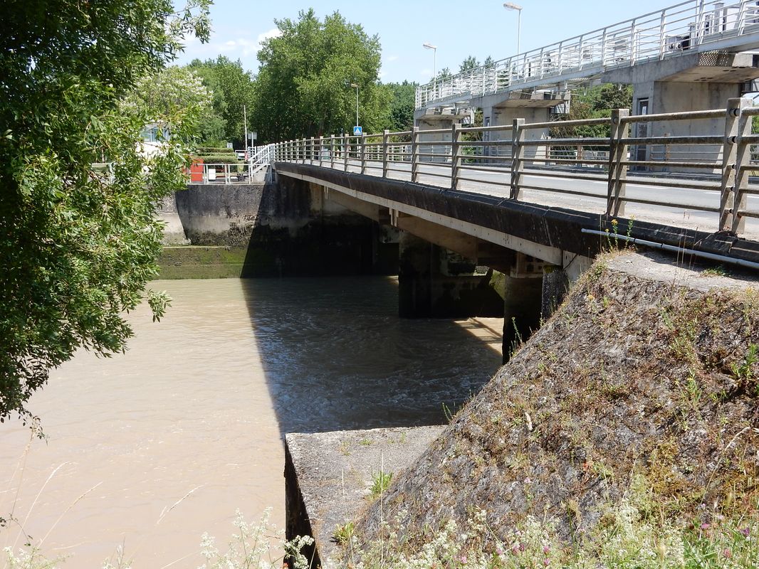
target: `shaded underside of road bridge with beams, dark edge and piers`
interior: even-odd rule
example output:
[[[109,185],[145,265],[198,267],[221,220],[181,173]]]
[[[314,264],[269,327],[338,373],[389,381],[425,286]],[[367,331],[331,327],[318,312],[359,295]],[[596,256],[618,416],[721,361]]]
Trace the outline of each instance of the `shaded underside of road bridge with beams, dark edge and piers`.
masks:
[[[327,202],[394,228],[401,316],[504,316],[504,354],[549,316],[568,282],[609,240],[581,232],[610,228],[603,215],[504,200],[411,182],[276,162]],[[618,225],[626,227],[625,220]],[[700,243],[726,252],[735,238],[635,222],[635,237]],[[732,249],[735,254],[735,248]],[[463,269],[462,269],[463,267]],[[493,271],[499,293],[493,295]]]

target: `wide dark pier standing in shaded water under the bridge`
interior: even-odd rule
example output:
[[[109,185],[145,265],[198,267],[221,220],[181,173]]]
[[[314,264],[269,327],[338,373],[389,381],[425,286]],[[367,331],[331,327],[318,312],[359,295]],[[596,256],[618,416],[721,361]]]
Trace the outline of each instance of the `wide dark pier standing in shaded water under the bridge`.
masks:
[[[456,253],[401,231],[398,240],[398,314],[402,318],[501,316],[490,273]]]

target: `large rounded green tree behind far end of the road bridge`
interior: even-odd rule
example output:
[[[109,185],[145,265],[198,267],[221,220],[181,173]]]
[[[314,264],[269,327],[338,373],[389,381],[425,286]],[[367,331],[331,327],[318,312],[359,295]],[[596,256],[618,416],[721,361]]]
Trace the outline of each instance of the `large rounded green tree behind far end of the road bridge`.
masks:
[[[298,21],[276,20],[280,36],[263,42],[256,79],[254,124],[262,140],[348,131],[355,121],[356,88],[364,130],[379,130],[390,93],[379,84],[379,39],[339,12],[320,21],[313,10]]]

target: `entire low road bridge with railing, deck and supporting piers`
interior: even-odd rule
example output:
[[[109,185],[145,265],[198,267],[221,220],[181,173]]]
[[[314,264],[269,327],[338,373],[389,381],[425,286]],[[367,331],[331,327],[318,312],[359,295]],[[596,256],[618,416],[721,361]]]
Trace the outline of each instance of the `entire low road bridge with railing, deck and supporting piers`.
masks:
[[[472,281],[461,285],[451,269],[463,258],[506,275],[505,321],[530,329],[600,250],[628,240],[676,251],[687,262],[701,256],[759,269],[759,185],[750,178],[759,171],[751,161],[757,115],[751,100],[730,99],[726,108],[666,115],[618,109],[610,118],[550,124],[453,124],[449,141],[424,140],[418,127],[312,137],[267,152],[277,177],[400,232],[402,315],[442,316],[434,307],[443,297],[471,291]],[[658,121],[716,121],[720,134],[631,136],[634,125],[652,130]],[[609,135],[571,136],[587,126]],[[562,135],[529,139],[545,128]],[[485,136],[496,132],[508,140]],[[668,151],[636,159],[641,146],[715,145],[720,162],[684,162]],[[504,147],[508,157],[499,152]],[[683,165],[688,172],[676,171]],[[505,329],[507,352],[519,335]]]

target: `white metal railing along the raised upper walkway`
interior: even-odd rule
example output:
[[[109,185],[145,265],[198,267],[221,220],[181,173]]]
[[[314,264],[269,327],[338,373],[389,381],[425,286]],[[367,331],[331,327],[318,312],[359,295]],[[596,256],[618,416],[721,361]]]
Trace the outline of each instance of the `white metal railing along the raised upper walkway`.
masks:
[[[610,68],[628,67],[683,52],[729,49],[759,32],[759,2],[688,0],[600,30],[512,55],[417,87],[416,108],[452,98],[531,89],[587,79]],[[719,43],[719,45],[717,45]]]

